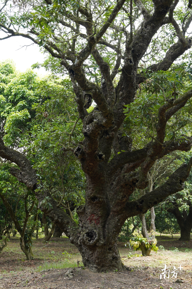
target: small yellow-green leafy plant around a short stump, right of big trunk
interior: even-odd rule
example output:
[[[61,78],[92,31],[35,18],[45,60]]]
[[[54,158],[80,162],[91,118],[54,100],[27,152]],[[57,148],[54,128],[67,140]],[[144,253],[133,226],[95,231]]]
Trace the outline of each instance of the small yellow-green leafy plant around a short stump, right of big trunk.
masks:
[[[131,237],[129,242],[135,251],[141,250],[143,256],[149,256],[151,251],[157,252],[157,239],[149,238],[149,240],[147,240],[137,232],[134,232],[132,235],[133,237]]]

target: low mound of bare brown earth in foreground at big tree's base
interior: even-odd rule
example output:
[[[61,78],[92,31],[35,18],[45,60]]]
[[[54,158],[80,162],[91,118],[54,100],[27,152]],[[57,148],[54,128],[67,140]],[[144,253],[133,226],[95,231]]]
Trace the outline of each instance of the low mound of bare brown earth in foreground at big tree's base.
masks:
[[[68,270],[72,270],[74,275],[72,279],[65,277]],[[189,274],[190,273],[190,274]],[[182,288],[191,288],[192,272],[179,272],[178,277],[181,280]],[[181,288],[177,283],[177,278],[160,280],[159,268],[141,268],[126,272],[106,272],[94,273],[88,269],[66,268],[66,269],[48,269],[43,272],[14,272],[8,275],[1,275],[0,288],[19,289],[114,289],[114,288]]]

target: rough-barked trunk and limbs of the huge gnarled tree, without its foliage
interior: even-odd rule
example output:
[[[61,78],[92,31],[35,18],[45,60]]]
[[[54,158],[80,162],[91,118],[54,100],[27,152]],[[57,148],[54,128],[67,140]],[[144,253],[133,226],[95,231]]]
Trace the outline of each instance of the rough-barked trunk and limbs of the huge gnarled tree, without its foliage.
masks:
[[[45,0],[45,2],[47,5],[52,3],[51,0]],[[45,5],[43,0],[42,3]],[[126,269],[121,262],[116,243],[125,220],[131,216],[144,214],[146,210],[151,209],[167,196],[181,191],[192,166],[192,159],[190,159],[189,163],[183,164],[177,169],[164,185],[155,188],[138,200],[129,201],[135,188],[147,187],[147,173],[155,160],[171,151],[189,151],[192,145],[192,137],[188,136],[183,139],[181,144],[178,144],[178,140],[165,141],[167,121],[174,113],[184,107],[192,96],[192,90],[176,99],[168,99],[161,105],[155,128],[155,138],[144,148],[131,151],[131,140],[122,137],[121,129],[125,119],[123,108],[125,104],[134,101],[138,84],[145,80],[143,74],[137,73],[137,69],[155,33],[163,25],[171,23],[179,39],[168,49],[164,59],[149,67],[153,72],[168,70],[178,57],[191,48],[192,44],[190,38],[185,38],[185,32],[192,17],[188,16],[182,32],[173,19],[177,0],[175,2],[172,0],[154,0],[152,14],[147,11],[140,0],[134,0],[134,3],[143,15],[143,22],[134,32],[134,35],[132,26],[130,33],[125,33],[123,30],[123,33],[126,34],[123,55],[119,46],[108,43],[104,36],[110,29],[110,25],[113,25],[113,20],[119,11],[124,9],[125,0],[117,1],[109,18],[100,29],[95,31],[94,27],[97,24],[94,24],[93,14],[90,13],[89,9],[79,6],[76,14],[71,11],[67,14],[63,12],[59,20],[60,25],[65,30],[68,27],[67,29],[71,28],[76,33],[72,45],[64,51],[63,46],[59,46],[59,41],[52,42],[54,37],[44,45],[44,48],[53,57],[61,60],[61,65],[69,73],[76,96],[79,118],[83,125],[83,142],[76,147],[63,148],[65,151],[74,152],[86,176],[85,205],[77,208],[79,225],[58,206],[48,191],[42,193],[42,187],[41,191],[36,190],[38,189],[37,176],[30,161],[18,151],[6,147],[0,138],[0,156],[19,167],[12,167],[11,174],[34,191],[39,201],[39,208],[61,228],[70,238],[70,242],[76,245],[82,255],[82,262],[92,271],[105,272],[106,270],[117,269],[121,271]],[[132,7],[130,7],[130,11],[132,11]],[[130,23],[132,23],[131,15],[128,14]],[[67,15],[66,22],[63,20],[65,15]],[[76,23],[76,28],[71,26],[69,20]],[[79,25],[85,27],[86,35],[79,32]],[[11,29],[11,23],[10,26],[0,23],[0,27],[2,31],[7,31],[7,37],[22,36],[31,39],[36,44],[39,43],[37,39],[32,37],[34,34],[38,37],[34,28],[28,29],[29,34],[25,34]],[[85,45],[80,52],[75,51],[76,37],[78,36],[85,39]],[[55,36],[55,39],[58,38]],[[117,52],[116,65],[112,72],[97,49],[99,45],[107,45]],[[101,71],[101,87],[89,81],[82,68],[91,54]],[[123,59],[123,65],[119,70],[121,59]],[[119,71],[121,73],[119,83],[114,87],[113,79]],[[86,109],[93,100],[97,105],[88,113]],[[115,156],[111,159],[112,150]],[[121,154],[117,154],[119,151],[122,151]],[[139,167],[140,169],[136,170]],[[50,209],[43,206],[42,202],[45,196],[49,197],[52,205]]]

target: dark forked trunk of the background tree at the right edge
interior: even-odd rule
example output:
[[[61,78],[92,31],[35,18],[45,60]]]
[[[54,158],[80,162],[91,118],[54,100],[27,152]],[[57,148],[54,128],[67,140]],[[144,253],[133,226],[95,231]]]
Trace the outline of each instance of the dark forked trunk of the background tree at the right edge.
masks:
[[[192,229],[192,204],[190,204],[188,215],[185,210],[183,210],[182,213],[179,211],[179,206],[176,202],[173,203],[173,208],[167,209],[167,212],[172,213],[177,219],[177,223],[181,229],[179,241],[190,241],[190,232]]]

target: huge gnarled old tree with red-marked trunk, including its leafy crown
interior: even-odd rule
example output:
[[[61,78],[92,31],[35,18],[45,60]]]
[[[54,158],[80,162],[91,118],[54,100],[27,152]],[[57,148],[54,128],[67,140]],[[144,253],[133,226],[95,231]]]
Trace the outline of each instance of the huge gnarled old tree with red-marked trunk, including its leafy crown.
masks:
[[[79,224],[44,188],[30,160],[2,138],[0,156],[18,166],[11,174],[35,192],[39,208],[76,245],[92,271],[126,269],[116,244],[125,220],[182,191],[192,166],[190,159],[163,185],[129,200],[135,188],[147,187],[147,174],[157,159],[172,151],[189,151],[192,145],[184,129],[191,115],[191,106],[185,106],[192,96],[190,64],[183,68],[189,78],[182,88],[177,88],[178,73],[170,72],[170,79],[164,75],[175,61],[190,58],[191,2],[177,7],[178,2],[40,0],[1,5],[1,40],[22,36],[40,45],[48,55],[46,67],[67,73],[73,85],[84,139],[73,145],[70,134],[62,150],[74,153],[86,177]],[[163,78],[166,87],[158,82]],[[140,96],[145,85],[147,93]],[[151,103],[143,116],[140,107],[137,115],[132,113],[140,98]],[[89,111],[93,101],[96,105]],[[133,120],[134,129],[124,128],[125,117],[129,124]],[[185,124],[180,125],[183,118]],[[150,136],[148,143],[143,130]]]

